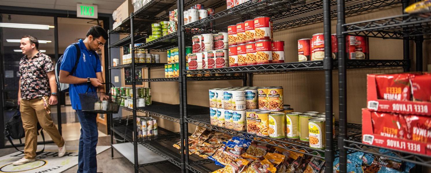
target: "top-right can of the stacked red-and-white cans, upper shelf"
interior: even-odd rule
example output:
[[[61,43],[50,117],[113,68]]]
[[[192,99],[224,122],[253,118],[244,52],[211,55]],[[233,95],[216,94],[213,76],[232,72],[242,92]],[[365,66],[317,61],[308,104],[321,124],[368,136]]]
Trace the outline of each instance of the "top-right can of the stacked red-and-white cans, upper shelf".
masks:
[[[269,17],[254,18],[254,39],[271,40],[271,22]]]

